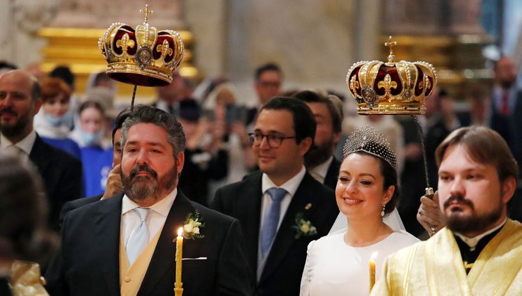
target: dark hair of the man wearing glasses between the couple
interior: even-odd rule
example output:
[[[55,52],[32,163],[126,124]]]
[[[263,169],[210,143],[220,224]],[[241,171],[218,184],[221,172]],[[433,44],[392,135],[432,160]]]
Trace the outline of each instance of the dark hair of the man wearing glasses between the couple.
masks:
[[[290,97],[275,97],[264,104],[260,112],[267,110],[286,110],[294,119],[295,140],[301,143],[303,139],[315,137],[317,127],[312,110],[302,101]]]

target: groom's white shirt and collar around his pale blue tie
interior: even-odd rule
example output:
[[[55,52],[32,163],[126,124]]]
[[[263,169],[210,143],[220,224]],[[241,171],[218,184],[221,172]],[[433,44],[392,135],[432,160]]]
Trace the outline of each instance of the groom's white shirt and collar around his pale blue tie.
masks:
[[[149,231],[149,242],[153,237],[155,237],[159,229],[161,229],[161,227],[165,224],[168,212],[171,211],[176,196],[177,188],[168,194],[168,196],[161,199],[161,201],[158,201],[154,205],[148,207],[151,211],[147,215],[145,224],[147,224]],[[125,194],[122,199],[120,230],[123,242],[125,242],[125,248],[127,248],[127,241],[129,240],[129,236],[132,233],[132,230],[137,226],[137,224],[140,223],[138,213],[134,211],[135,208],[139,208],[139,205],[134,203],[134,201],[131,201],[130,198],[127,197],[127,194]]]

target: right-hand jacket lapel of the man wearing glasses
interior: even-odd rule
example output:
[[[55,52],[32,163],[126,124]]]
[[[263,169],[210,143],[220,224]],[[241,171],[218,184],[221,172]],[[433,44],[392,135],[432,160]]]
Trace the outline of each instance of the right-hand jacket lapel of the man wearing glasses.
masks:
[[[317,182],[313,179],[310,174],[306,173],[301,184],[297,188],[290,205],[285,213],[285,217],[283,217],[283,221],[279,226],[276,240],[274,240],[274,244],[271,247],[270,254],[267,258],[267,263],[264,265],[264,270],[261,274],[260,282],[264,281],[267,276],[276,269],[279,263],[285,258],[288,251],[292,247],[292,244],[296,241],[295,235],[296,230],[292,228],[295,225],[295,218],[299,212],[305,212],[306,205],[308,203],[312,205],[319,205],[321,196],[316,196],[313,194],[313,186],[310,185],[310,182]],[[308,215],[313,213],[317,207],[313,207],[310,209]]]

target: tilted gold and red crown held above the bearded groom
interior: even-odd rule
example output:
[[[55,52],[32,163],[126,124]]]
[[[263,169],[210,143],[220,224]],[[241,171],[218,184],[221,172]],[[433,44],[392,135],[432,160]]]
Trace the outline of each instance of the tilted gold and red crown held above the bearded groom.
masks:
[[[184,57],[183,40],[173,30],[157,31],[147,23],[152,10],[145,5],[143,24],[132,26],[116,22],[106,29],[98,47],[107,60],[107,76],[139,86],[164,86]]]

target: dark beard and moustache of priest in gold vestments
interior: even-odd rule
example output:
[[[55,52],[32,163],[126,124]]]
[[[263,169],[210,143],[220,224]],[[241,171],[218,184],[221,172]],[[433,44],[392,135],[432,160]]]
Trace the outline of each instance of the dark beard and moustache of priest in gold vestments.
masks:
[[[454,208],[452,212],[448,215],[446,213],[446,208],[450,206],[452,201],[459,201],[461,203],[466,203],[471,208],[471,215],[464,216],[462,214],[461,209]],[[504,211],[504,205],[502,200],[499,198],[499,203],[496,208],[493,208],[490,212],[484,213],[481,215],[477,215],[475,212],[475,207],[473,202],[469,199],[464,198],[464,196],[450,196],[447,201],[444,202],[444,214],[446,216],[446,226],[450,228],[451,231],[457,233],[470,233],[470,232],[480,232],[484,229],[491,226],[491,224],[495,223],[501,216]]]

